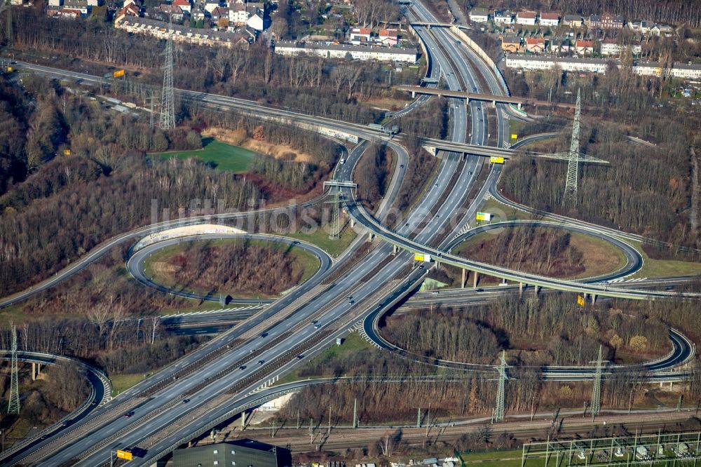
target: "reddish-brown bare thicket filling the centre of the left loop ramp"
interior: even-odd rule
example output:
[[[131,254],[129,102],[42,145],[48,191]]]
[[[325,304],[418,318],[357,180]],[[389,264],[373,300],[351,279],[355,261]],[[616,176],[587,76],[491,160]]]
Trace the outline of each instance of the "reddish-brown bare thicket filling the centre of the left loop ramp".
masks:
[[[193,242],[151,267],[185,289],[229,295],[279,295],[297,285],[304,273],[296,253],[242,241]]]

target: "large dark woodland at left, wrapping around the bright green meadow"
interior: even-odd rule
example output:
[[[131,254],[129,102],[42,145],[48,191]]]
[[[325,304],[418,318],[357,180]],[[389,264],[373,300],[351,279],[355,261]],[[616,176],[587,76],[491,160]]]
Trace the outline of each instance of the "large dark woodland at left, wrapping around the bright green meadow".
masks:
[[[261,158],[248,176],[193,159],[166,161],[145,151],[196,149],[197,133],[151,129],[55,82],[26,77],[24,84],[26,94],[0,78],[7,117],[0,140],[13,141],[0,147],[0,295],[48,276],[109,236],[149,223],[154,202],[189,214],[193,200],[238,210],[285,201],[313,189],[339,154],[320,135],[201,111],[200,126],[212,119],[274,144],[299,144],[311,161]],[[68,148],[71,155],[64,156]]]

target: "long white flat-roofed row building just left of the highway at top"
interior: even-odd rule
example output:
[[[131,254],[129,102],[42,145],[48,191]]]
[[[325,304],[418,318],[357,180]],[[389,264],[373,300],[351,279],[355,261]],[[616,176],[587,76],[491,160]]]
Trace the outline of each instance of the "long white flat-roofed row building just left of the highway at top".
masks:
[[[347,58],[353,60],[378,60],[380,62],[416,62],[415,48],[349,46],[326,42],[277,41],[275,53],[280,55],[313,55],[325,58]]]

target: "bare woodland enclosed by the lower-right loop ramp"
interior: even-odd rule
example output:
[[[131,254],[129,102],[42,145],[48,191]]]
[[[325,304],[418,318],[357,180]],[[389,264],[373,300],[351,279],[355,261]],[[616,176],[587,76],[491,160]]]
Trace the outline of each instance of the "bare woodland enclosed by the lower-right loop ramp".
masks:
[[[526,365],[583,365],[599,345],[615,353],[663,354],[669,339],[660,318],[630,318],[608,306],[580,308],[569,295],[509,297],[468,309],[426,309],[386,321],[383,333],[407,350],[467,363],[494,363],[502,348]]]

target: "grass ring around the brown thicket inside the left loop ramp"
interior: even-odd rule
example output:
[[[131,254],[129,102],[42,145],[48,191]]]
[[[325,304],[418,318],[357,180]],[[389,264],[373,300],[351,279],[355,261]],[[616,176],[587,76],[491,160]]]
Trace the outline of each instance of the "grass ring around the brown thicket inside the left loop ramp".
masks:
[[[207,245],[210,245],[212,247],[217,247],[217,246],[223,246],[223,245],[231,245],[231,243],[242,243],[243,241],[240,239],[219,239],[219,240],[213,240],[213,241],[207,241]],[[266,242],[266,241],[259,241],[259,240],[250,240],[246,242],[247,245],[257,245],[261,246],[264,248],[271,248],[273,250],[282,250],[285,251],[288,255],[292,256],[292,276],[297,276],[297,274],[300,275],[300,279],[295,285],[299,285],[301,283],[304,283],[305,280],[310,278],[313,273],[318,271],[319,269],[319,259],[315,257],[311,252],[308,252],[307,250],[304,250],[304,248],[299,248],[299,247],[294,247],[290,246],[284,243],[277,243],[277,242]],[[177,245],[172,245],[167,248],[163,248],[161,250],[157,250],[154,252],[153,255],[147,259],[147,261],[144,263],[144,273],[146,273],[147,277],[151,277],[154,279],[156,283],[159,283],[161,285],[164,285],[165,287],[177,287],[178,290],[182,290],[185,292],[195,292],[195,293],[200,293],[203,295],[206,295],[209,291],[206,290],[193,290],[189,287],[182,287],[181,284],[177,283],[175,280],[172,271],[168,267],[170,264],[172,264],[172,260],[177,257],[178,255],[182,255],[184,252],[189,250],[193,242],[184,242],[184,243],[179,243]],[[212,285],[213,288],[216,288],[216,284]],[[222,291],[226,292],[226,291]],[[257,298],[275,298],[277,295],[266,295],[264,293],[250,293],[247,294],[245,292],[236,292],[236,294],[231,294],[236,295],[236,297],[257,297]],[[212,306],[211,309],[217,308],[217,306]],[[198,311],[201,311],[202,308],[198,307]]]

